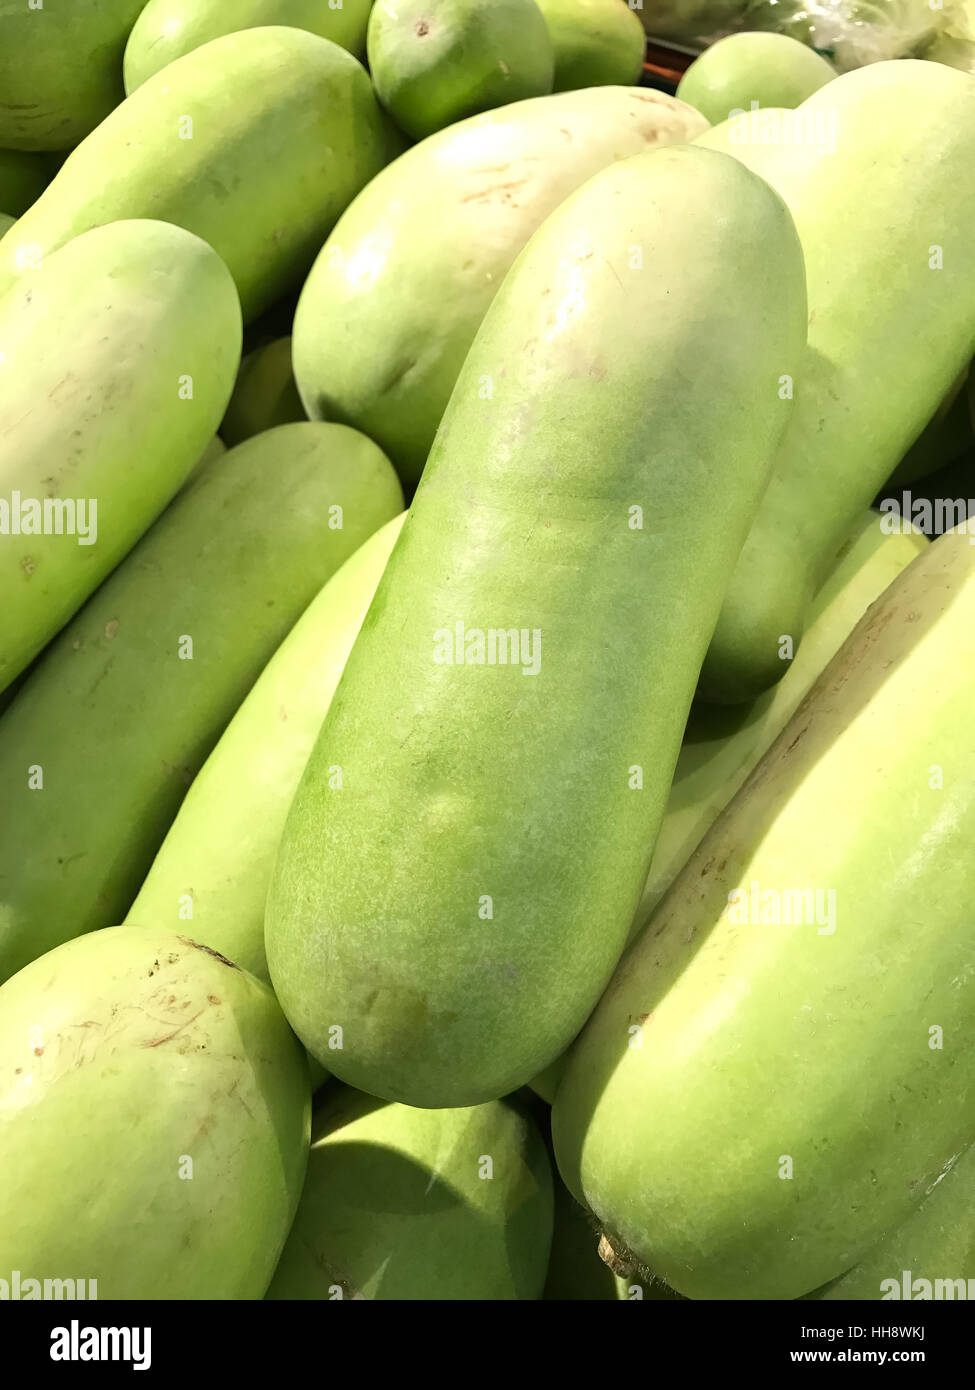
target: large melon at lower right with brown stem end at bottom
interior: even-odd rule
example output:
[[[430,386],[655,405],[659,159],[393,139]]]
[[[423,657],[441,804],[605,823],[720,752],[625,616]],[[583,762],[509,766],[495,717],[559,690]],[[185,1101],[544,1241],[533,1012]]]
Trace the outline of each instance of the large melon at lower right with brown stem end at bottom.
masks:
[[[971,1143],[975,549],[869,609],[688,860],[555,1095],[563,1179],[691,1298],[850,1269]]]

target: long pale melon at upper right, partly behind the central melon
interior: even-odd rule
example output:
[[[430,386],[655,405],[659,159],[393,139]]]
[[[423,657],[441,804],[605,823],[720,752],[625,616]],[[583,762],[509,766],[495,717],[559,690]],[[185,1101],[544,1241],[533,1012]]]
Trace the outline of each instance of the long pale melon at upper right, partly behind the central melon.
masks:
[[[833,555],[975,350],[975,78],[876,63],[701,143],[783,196],[809,286],[796,410],[701,680],[733,702],[779,680],[783,638],[798,645]]]

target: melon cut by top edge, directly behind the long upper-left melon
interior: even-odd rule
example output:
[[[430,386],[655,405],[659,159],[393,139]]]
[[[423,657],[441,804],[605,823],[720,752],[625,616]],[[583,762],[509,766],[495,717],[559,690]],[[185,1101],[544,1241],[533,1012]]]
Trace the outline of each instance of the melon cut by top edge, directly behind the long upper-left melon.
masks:
[[[341,10],[328,0],[149,0],[125,44],[125,90],[213,39],[268,25],[307,29],[362,58],[371,8],[373,0],[342,0]]]

